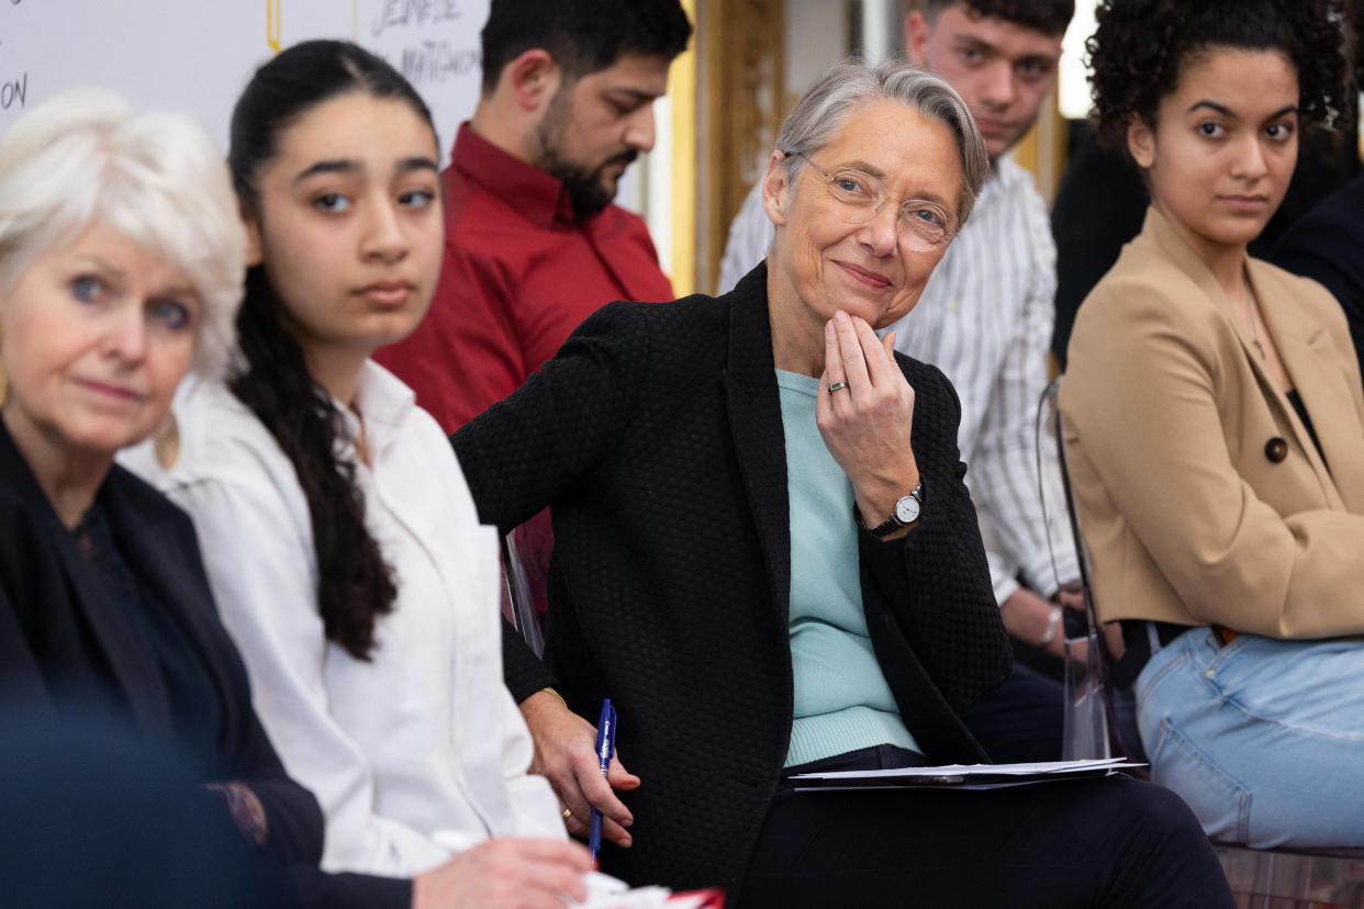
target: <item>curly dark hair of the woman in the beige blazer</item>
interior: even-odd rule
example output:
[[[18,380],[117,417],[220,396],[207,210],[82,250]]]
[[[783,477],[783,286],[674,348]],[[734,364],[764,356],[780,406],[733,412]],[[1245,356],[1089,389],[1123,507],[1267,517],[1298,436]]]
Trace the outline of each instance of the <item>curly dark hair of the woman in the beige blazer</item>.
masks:
[[[1281,50],[1299,80],[1299,120],[1330,125],[1345,104],[1339,0],[1101,0],[1086,42],[1099,142],[1127,147],[1135,113],[1154,124],[1180,71],[1206,48]]]

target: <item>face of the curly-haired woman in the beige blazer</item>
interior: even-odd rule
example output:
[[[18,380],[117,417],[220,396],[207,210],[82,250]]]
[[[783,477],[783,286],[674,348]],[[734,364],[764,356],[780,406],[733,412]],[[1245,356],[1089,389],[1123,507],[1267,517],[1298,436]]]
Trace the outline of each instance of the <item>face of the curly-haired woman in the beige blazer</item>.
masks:
[[[1204,260],[1244,252],[1284,200],[1297,102],[1297,72],[1281,52],[1214,48],[1184,61],[1154,127],[1128,129],[1151,202]]]

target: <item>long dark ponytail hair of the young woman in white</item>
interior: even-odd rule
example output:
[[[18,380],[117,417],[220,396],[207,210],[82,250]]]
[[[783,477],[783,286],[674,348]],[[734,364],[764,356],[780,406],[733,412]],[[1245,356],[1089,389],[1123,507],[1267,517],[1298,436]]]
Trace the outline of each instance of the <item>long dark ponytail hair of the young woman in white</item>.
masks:
[[[308,41],[256,70],[232,112],[228,164],[241,204],[258,225],[256,180],[278,153],[280,135],[312,108],[352,91],[402,101],[431,123],[421,97],[401,74],[349,42]],[[327,639],[368,660],[375,619],[393,611],[397,586],[366,526],[355,465],[336,457],[341,413],[308,375],[303,349],[281,324],[281,305],[265,268],[248,268],[237,315],[244,365],[229,387],[284,450],[308,500],[318,612]]]

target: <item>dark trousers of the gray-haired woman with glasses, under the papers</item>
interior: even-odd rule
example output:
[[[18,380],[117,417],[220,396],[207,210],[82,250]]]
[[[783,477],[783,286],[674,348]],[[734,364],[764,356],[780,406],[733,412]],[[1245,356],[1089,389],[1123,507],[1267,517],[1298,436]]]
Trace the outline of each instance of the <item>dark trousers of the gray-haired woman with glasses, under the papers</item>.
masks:
[[[902,766],[889,751],[868,748],[840,756],[851,762],[832,758],[795,770]],[[786,782],[769,805],[738,905],[1230,909],[1234,902],[1178,796],[1110,775],[983,792],[795,792]]]

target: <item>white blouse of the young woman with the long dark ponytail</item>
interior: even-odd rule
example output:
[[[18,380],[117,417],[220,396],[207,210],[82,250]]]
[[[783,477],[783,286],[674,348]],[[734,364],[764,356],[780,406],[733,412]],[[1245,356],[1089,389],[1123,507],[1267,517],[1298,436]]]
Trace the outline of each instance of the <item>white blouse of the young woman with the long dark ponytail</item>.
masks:
[[[221,384],[176,398],[176,463],[138,472],[194,519],[209,581],[285,769],[326,814],[322,867],[412,876],[494,835],[563,838],[558,801],[528,775],[532,743],[502,683],[496,531],[479,525],[435,420],[367,363],[355,462],[370,531],[398,586],[370,662],[326,641],[312,523],[293,466]],[[349,437],[360,421],[342,409]],[[346,443],[345,457],[355,459]]]

